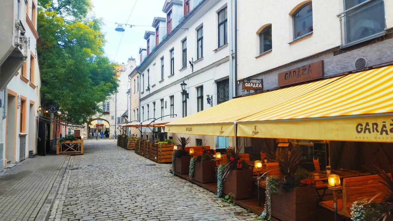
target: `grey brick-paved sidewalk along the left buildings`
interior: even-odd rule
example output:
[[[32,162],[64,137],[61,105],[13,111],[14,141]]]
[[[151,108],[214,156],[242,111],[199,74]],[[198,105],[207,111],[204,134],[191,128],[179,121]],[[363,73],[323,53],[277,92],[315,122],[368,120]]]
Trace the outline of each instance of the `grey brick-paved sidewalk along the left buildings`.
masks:
[[[64,160],[66,156],[55,155],[28,158],[0,173],[0,221],[44,220],[49,212],[45,204],[52,203],[48,194]]]

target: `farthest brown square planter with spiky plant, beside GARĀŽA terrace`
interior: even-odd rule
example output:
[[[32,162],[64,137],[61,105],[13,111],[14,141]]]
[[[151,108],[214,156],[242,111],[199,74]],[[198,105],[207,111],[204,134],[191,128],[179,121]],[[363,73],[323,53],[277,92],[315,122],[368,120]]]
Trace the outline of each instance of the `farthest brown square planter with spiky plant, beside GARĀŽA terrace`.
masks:
[[[189,165],[191,155],[185,150],[185,146],[188,145],[191,138],[178,138],[178,146],[180,149],[173,153],[172,159],[174,161],[174,172],[179,174],[187,174],[189,172]]]

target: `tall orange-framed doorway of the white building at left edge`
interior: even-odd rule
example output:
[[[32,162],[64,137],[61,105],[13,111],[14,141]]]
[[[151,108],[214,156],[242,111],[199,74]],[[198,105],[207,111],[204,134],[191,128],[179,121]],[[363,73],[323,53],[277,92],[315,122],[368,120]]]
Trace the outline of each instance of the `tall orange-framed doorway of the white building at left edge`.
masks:
[[[8,91],[7,97],[7,118],[6,118],[6,159],[7,164],[15,164],[16,135],[17,135],[17,94]]]

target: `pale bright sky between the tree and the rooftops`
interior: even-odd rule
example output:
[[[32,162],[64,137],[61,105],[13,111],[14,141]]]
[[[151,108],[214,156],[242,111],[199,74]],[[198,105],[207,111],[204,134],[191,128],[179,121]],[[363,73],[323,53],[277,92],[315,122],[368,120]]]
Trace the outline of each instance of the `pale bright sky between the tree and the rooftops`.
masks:
[[[119,64],[127,63],[127,59],[131,56],[138,58],[139,48],[146,47],[146,40],[143,39],[145,31],[154,31],[151,26],[154,17],[165,17],[162,12],[165,0],[91,0],[91,2],[93,15],[102,18],[104,22],[101,31],[107,41],[104,47],[105,54],[111,61]],[[117,26],[115,22],[125,24],[134,4],[134,10],[127,24],[136,26],[132,28],[127,26],[121,39],[121,33],[115,31]],[[119,50],[116,54],[118,46]],[[139,60],[136,61],[138,64]]]

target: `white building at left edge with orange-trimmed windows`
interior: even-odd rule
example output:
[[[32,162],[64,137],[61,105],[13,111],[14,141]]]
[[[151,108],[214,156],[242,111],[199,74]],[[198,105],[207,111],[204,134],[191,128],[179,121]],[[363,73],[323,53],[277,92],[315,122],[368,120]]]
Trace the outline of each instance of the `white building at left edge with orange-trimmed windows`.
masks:
[[[6,0],[0,9],[0,171],[37,153],[41,86],[37,1]]]

